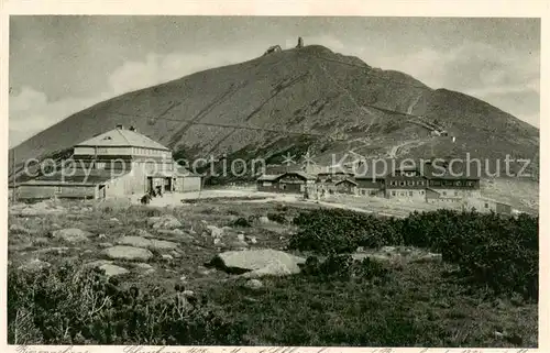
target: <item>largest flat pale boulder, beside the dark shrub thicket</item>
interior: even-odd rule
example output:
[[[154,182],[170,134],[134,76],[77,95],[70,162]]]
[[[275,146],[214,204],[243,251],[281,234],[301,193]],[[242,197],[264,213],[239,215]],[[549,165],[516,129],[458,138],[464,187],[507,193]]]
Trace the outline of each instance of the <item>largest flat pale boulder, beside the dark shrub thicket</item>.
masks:
[[[246,274],[246,277],[254,277],[297,274],[300,272],[298,265],[305,262],[306,260],[302,257],[265,249],[223,252],[216,255],[210,264],[229,273]]]

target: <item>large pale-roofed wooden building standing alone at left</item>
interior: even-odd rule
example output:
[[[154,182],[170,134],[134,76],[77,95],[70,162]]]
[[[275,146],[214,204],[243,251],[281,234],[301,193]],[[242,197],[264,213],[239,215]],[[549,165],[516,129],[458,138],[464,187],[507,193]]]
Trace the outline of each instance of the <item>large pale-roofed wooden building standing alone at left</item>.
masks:
[[[20,199],[96,199],[200,187],[201,177],[179,166],[169,148],[133,128],[118,125],[77,144],[70,161],[62,161],[53,173],[19,184],[16,195]]]

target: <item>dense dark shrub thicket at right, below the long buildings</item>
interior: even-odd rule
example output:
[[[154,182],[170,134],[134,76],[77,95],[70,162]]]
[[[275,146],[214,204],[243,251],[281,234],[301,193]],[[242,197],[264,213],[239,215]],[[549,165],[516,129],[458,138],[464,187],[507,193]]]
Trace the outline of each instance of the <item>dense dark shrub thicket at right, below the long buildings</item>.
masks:
[[[496,294],[538,296],[538,217],[439,210],[406,219],[376,218],[348,210],[319,209],[294,219],[299,227],[290,249],[321,254],[358,246],[408,245],[440,252],[460,265],[472,283]]]

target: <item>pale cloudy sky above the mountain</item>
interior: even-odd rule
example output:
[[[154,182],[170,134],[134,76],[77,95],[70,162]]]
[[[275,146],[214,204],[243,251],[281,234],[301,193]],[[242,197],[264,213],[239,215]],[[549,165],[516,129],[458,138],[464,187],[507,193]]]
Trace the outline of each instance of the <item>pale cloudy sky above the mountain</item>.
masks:
[[[101,100],[298,36],[539,126],[537,19],[34,15],[10,20],[10,146]]]

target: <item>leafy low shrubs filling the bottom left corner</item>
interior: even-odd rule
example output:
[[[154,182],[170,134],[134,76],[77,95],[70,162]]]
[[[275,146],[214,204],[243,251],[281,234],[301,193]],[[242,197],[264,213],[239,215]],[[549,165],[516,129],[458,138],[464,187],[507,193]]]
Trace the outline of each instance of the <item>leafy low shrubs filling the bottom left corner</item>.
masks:
[[[179,294],[123,288],[99,269],[9,268],[10,344],[237,344],[242,327]]]

